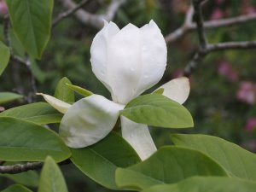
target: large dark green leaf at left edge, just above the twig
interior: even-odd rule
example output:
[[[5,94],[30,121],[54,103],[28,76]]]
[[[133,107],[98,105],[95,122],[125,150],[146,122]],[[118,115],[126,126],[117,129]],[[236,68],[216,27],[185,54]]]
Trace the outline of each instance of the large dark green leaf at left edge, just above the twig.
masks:
[[[71,153],[54,131],[23,119],[0,117],[0,157],[7,161],[43,161],[51,155],[57,162]]]

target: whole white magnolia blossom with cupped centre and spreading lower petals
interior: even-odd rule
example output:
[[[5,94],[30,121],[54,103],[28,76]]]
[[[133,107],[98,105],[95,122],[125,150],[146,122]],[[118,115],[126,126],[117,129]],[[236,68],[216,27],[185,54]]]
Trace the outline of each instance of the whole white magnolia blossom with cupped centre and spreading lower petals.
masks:
[[[84,148],[106,137],[119,119],[119,111],[157,84],[166,69],[165,39],[153,20],[141,28],[128,24],[121,30],[113,22],[105,21],[93,39],[90,54],[92,71],[108,88],[113,101],[92,95],[72,106],[66,105],[60,136],[71,148]],[[189,79],[173,79],[160,88],[164,89],[164,96],[183,103],[189,96]],[[50,96],[44,97],[51,100]],[[63,103],[59,104],[63,112]],[[120,122],[122,137],[142,160],[156,151],[148,125],[124,116],[120,116]]]

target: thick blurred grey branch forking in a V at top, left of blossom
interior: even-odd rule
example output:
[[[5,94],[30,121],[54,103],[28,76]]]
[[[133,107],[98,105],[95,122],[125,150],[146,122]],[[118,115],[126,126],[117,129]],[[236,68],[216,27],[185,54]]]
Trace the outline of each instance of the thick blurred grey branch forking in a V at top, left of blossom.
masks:
[[[74,13],[78,20],[82,23],[90,26],[94,26],[98,29],[102,28],[104,21],[103,20],[113,20],[114,15],[118,11],[119,7],[125,3],[126,0],[112,0],[109,4],[107,12],[105,15],[93,15],[84,9],[80,9]],[[61,0],[63,7],[66,9],[75,9],[78,5],[73,2],[73,0]]]

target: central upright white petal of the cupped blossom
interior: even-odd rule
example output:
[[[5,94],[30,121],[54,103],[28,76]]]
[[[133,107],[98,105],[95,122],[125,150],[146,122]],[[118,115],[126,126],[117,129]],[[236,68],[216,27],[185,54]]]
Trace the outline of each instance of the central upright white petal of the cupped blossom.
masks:
[[[129,24],[112,38],[108,47],[108,82],[114,102],[125,104],[138,95],[141,67],[141,31]]]

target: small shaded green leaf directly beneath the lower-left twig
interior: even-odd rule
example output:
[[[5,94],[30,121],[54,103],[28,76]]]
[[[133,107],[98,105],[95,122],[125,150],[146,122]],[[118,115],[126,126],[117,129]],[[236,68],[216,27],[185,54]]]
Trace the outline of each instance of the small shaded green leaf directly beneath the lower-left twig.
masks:
[[[1,174],[1,177],[8,177],[9,179],[15,181],[15,183],[20,183],[29,187],[38,187],[39,176],[35,171],[20,172],[17,174]]]

